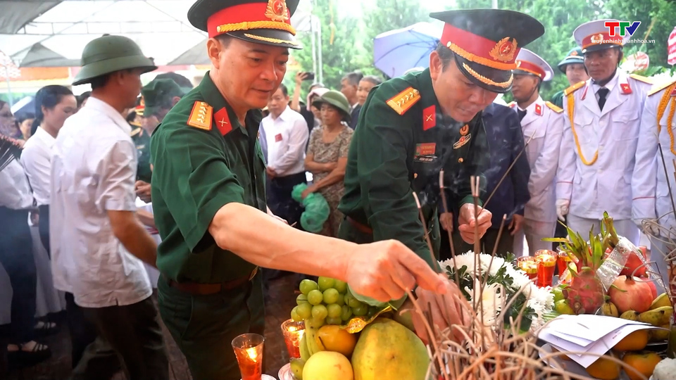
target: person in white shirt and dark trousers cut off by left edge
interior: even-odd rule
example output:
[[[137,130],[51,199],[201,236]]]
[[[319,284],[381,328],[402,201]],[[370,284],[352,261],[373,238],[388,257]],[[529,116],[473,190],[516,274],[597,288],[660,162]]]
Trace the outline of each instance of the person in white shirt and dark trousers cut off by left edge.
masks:
[[[13,364],[22,360],[22,355],[31,362],[51,355],[47,346],[33,341],[37,274],[28,227],[28,213],[32,208],[28,179],[19,161],[12,160],[0,170],[0,264],[12,286],[11,340],[7,350]]]

